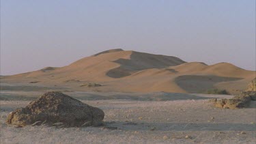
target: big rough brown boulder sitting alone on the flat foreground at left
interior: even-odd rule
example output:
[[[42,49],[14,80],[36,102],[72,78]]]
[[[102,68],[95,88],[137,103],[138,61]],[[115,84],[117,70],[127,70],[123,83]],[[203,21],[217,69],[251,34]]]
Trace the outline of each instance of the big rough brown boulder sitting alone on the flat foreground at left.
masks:
[[[104,112],[59,92],[44,93],[28,106],[16,109],[8,115],[7,123],[26,126],[46,123],[70,126],[99,126]]]

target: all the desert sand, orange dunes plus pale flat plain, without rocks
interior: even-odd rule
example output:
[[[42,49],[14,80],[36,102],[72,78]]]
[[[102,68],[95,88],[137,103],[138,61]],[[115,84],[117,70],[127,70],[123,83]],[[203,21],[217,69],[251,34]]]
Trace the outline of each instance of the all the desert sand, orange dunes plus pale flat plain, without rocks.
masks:
[[[256,102],[218,109],[208,89],[240,93],[255,72],[177,57],[113,49],[61,68],[1,76],[1,143],[256,143]],[[61,91],[105,113],[106,126],[8,126],[11,111]]]

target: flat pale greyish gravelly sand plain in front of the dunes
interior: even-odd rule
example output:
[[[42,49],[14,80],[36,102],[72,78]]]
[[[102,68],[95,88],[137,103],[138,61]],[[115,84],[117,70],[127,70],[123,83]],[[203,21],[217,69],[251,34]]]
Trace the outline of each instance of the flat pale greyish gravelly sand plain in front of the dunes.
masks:
[[[104,127],[55,128],[5,124],[7,115],[40,91],[1,91],[1,143],[255,143],[255,102],[246,109],[218,109],[186,93],[67,92],[105,113]],[[187,138],[186,138],[187,136]]]

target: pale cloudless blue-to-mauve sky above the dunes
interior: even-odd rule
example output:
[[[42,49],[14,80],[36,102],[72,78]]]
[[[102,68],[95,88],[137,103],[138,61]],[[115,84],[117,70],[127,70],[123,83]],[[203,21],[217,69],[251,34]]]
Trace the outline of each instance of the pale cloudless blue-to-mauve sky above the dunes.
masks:
[[[1,0],[1,75],[112,48],[255,70],[255,0]]]

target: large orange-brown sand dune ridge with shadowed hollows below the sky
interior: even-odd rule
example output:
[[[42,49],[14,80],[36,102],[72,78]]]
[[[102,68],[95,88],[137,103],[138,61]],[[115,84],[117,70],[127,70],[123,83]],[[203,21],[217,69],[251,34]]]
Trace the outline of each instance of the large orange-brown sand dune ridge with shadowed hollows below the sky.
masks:
[[[78,91],[201,93],[208,89],[241,91],[253,78],[254,71],[238,68],[231,63],[208,66],[172,56],[113,49],[62,68],[47,67],[24,74],[1,76],[1,81],[37,81],[40,85],[59,85]],[[86,83],[100,83],[103,86],[80,87]]]

